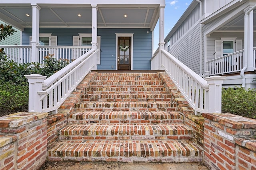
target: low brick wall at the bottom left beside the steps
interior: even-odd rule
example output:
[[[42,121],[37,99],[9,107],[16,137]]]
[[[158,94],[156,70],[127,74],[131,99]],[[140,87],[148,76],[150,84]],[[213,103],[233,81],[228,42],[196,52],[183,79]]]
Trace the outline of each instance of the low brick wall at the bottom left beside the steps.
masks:
[[[46,160],[48,113],[0,117],[0,170],[36,170]]]

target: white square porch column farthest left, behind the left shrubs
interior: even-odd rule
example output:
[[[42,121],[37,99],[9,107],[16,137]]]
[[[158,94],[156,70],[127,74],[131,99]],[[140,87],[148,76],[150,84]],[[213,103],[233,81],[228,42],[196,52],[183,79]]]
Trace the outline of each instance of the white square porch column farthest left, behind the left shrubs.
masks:
[[[40,45],[39,43],[39,13],[40,6],[37,4],[31,4],[32,6],[32,41],[31,41],[31,62],[37,62],[37,49],[36,46]]]

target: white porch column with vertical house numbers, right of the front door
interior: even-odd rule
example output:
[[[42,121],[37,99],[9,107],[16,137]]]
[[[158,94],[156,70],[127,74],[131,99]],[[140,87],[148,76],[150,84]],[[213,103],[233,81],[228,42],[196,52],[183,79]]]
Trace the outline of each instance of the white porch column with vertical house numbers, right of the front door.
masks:
[[[164,7],[160,6],[160,12],[159,12],[159,70],[164,70],[162,67],[162,49],[164,49]]]

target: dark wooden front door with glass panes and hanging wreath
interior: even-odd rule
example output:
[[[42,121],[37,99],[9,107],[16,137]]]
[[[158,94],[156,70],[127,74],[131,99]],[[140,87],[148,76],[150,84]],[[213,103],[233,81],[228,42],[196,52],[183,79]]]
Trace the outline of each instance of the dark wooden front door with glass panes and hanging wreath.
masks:
[[[131,37],[118,37],[118,57],[117,68],[118,70],[131,69]]]

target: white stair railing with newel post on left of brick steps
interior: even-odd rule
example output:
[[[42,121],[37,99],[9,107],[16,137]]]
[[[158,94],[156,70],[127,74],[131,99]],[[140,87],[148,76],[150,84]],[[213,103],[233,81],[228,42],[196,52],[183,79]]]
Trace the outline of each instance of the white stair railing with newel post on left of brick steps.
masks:
[[[56,113],[88,72],[96,69],[97,53],[91,49],[47,79],[39,74],[25,75],[29,82],[28,111]]]

